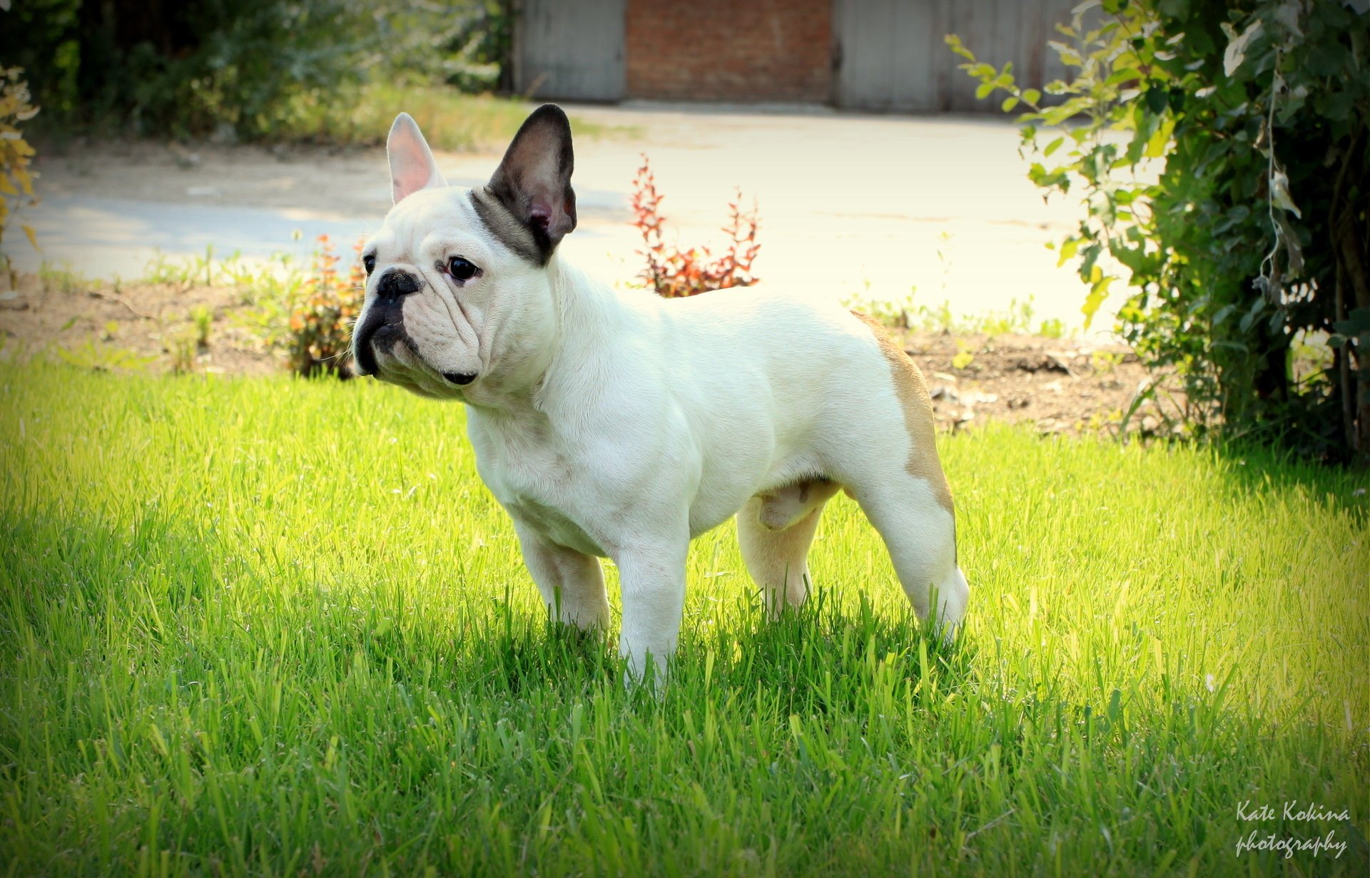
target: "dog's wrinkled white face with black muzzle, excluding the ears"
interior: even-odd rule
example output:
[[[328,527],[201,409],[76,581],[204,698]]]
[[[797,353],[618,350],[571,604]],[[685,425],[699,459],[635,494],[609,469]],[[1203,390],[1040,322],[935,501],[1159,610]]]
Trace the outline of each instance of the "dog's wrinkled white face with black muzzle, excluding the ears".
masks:
[[[516,378],[555,330],[544,266],[481,219],[473,190],[407,196],[367,242],[358,370],[423,396],[478,399]]]

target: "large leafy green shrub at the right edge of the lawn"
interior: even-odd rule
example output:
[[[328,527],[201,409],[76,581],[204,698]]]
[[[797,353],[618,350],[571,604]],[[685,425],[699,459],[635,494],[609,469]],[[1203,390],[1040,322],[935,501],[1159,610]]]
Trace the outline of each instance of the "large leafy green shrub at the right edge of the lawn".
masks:
[[[1060,260],[1078,259],[1085,314],[1107,253],[1132,286],[1121,333],[1177,370],[1196,427],[1370,459],[1370,14],[1107,0],[1062,33],[1058,105],[948,42],[982,97],[1028,108],[1033,182],[1080,193]],[[1293,362],[1310,340],[1333,345],[1326,367]]]

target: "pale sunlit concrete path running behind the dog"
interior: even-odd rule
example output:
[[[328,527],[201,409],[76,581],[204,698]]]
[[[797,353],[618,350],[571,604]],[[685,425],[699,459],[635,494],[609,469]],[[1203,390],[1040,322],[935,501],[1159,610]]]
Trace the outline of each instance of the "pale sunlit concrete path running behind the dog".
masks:
[[[399,110],[399,108],[397,108]],[[1044,204],[1026,179],[1017,129],[991,118],[910,118],[808,108],[693,105],[567,107],[627,127],[577,142],[580,227],[564,253],[611,281],[638,270],[629,192],[648,153],[662,212],[682,244],[718,242],[740,188],[760,208],[756,273],[836,297],[949,303],[958,314],[1033,299],[1034,322],[1082,321],[1084,286],[1056,268],[1045,242],[1078,222],[1073,204]],[[441,149],[440,144],[434,144]],[[44,258],[92,277],[136,277],[153,249],[307,253],[319,233],[344,242],[388,208],[384,153],[201,149],[173,160],[160,147],[95,149],[44,166],[44,203],[30,212]],[[443,153],[453,184],[489,177],[499,156]],[[292,242],[301,230],[304,241]],[[10,245],[19,264],[37,256]],[[1117,297],[1115,297],[1117,299]],[[1096,326],[1107,327],[1106,305]]]

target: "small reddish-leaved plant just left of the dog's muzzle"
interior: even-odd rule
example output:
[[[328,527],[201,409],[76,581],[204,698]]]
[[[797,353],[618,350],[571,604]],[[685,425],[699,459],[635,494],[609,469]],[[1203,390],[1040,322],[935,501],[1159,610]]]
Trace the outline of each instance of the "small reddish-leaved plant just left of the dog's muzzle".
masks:
[[[286,358],[290,370],[307,378],[351,378],[345,359],[352,345],[352,323],[362,311],[366,290],[360,259],[363,241],[352,247],[358,258],[345,275],[338,271],[340,256],[333,252],[329,236],[321,234],[318,241],[304,296],[290,310]]]

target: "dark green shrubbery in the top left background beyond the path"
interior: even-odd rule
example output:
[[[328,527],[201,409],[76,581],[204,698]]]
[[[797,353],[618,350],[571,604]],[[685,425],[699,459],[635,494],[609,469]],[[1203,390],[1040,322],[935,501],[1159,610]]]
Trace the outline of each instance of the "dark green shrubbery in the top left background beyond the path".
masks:
[[[53,126],[177,137],[289,138],[366,84],[489,90],[510,42],[496,0],[30,0],[0,22]]]

